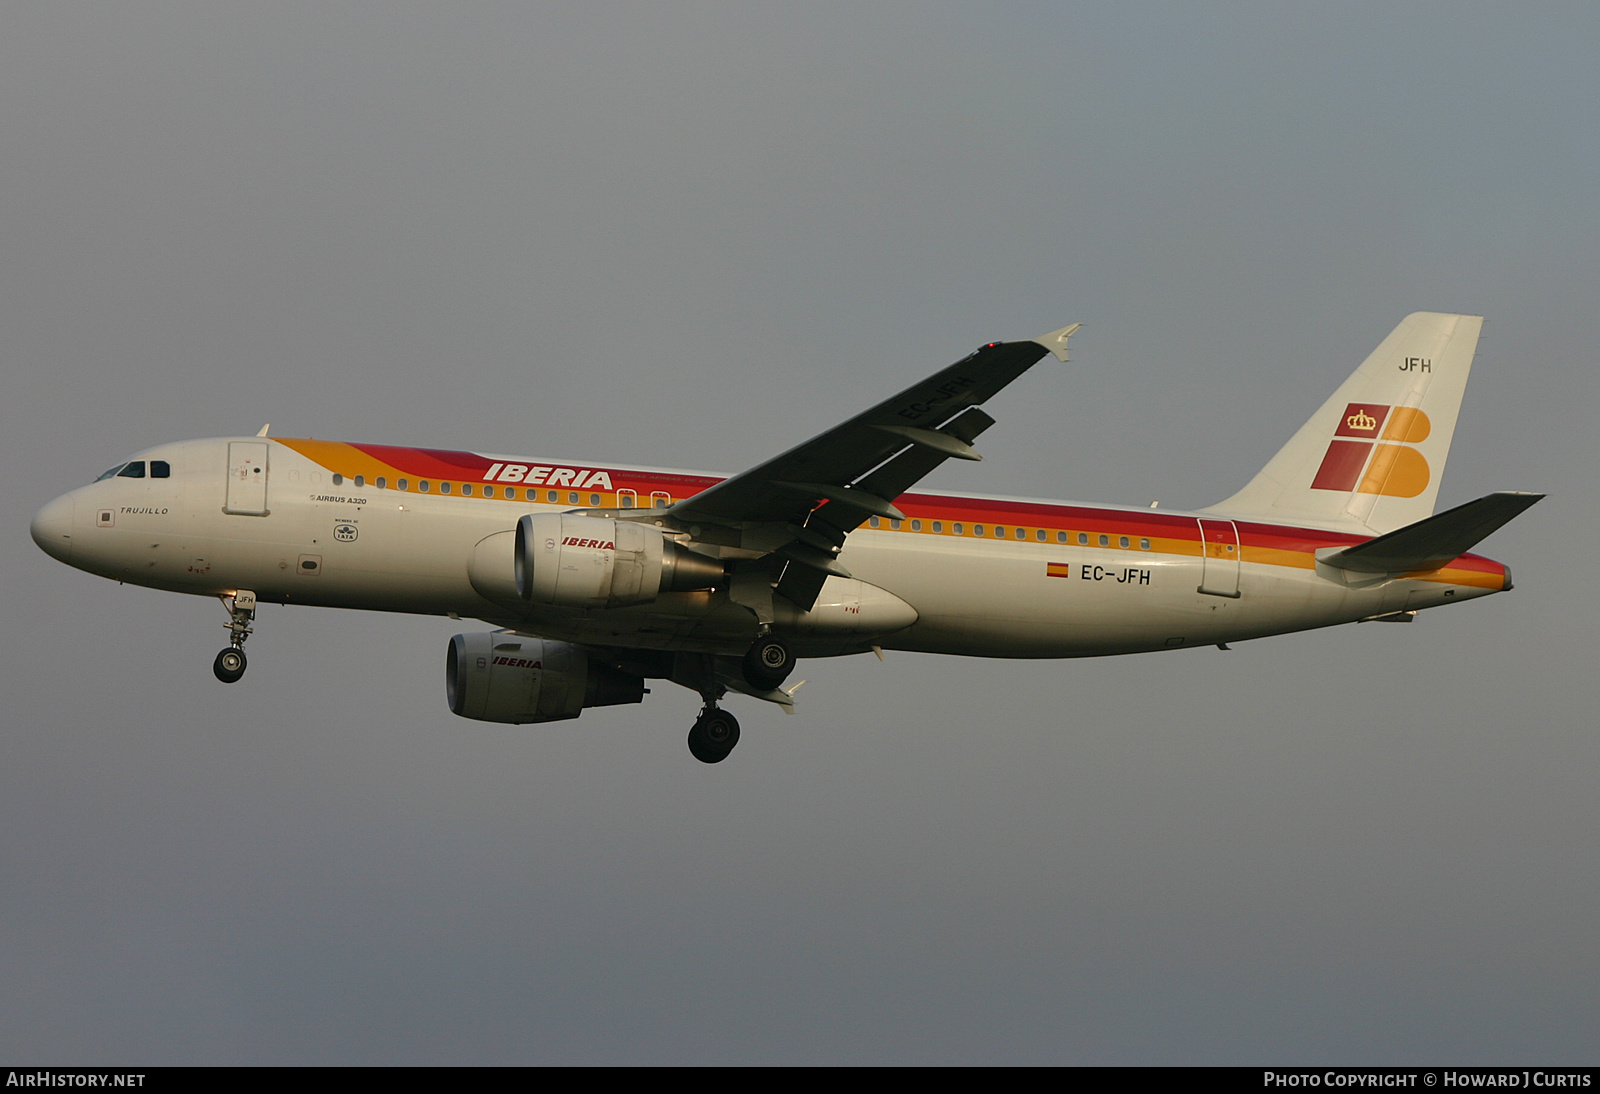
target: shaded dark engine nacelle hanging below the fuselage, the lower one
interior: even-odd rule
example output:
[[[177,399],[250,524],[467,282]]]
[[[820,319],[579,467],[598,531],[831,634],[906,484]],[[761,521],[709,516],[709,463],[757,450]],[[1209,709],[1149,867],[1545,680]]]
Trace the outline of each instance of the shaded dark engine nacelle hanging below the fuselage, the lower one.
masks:
[[[645,678],[597,661],[582,646],[509,632],[456,635],[445,657],[450,709],[478,721],[560,721],[584,707],[640,702]]]

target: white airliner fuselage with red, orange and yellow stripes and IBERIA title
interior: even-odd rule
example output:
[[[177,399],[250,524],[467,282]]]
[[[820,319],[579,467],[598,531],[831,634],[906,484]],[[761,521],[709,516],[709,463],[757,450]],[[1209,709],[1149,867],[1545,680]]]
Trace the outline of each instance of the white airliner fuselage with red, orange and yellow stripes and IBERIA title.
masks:
[[[240,465],[246,448],[264,456],[259,467]],[[339,465],[346,449],[355,453],[350,467]],[[248,589],[267,603],[477,617],[550,638],[650,649],[736,653],[757,633],[755,616],[723,590],[664,593],[630,608],[552,609],[518,598],[510,579],[507,537],[523,513],[650,509],[650,494],[667,504],[715,477],[614,465],[571,472],[430,453],[456,462],[435,459],[424,480],[405,462],[414,453],[421,449],[262,438],[165,445],[136,459],[165,462],[168,477],[82,486],[40,510],[34,534],[78,569],[173,592],[227,597]],[[378,457],[384,462],[373,464]],[[523,469],[509,486],[506,467]],[[597,493],[571,489],[586,478],[600,483]],[[838,561],[853,579],[830,577],[810,613],[779,613],[774,625],[800,656],[870,646],[989,657],[1139,653],[1325,627],[1509,587],[1499,563],[1474,555],[1426,574],[1352,584],[1318,568],[1315,555],[1358,536],[1216,513],[933,491],[906,494],[898,505],[906,520],[874,518],[877,526],[850,534]]]

